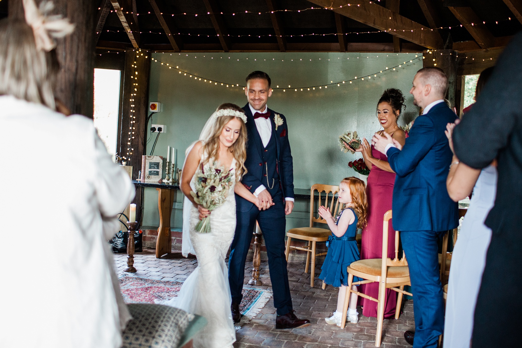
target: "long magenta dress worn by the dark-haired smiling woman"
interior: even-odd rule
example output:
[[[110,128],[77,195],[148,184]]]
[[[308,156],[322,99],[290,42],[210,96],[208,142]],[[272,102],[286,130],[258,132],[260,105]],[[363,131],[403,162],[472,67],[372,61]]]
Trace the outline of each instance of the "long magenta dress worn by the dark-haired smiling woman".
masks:
[[[381,161],[387,161],[386,155],[374,149],[372,155]],[[366,195],[368,199],[368,223],[362,232],[361,260],[381,259],[383,253],[383,218],[384,213],[392,208],[393,186],[395,173],[382,170],[372,165],[368,176]],[[395,257],[395,231],[392,222],[388,225],[388,257]],[[361,285],[361,292],[373,298],[379,296],[379,284],[370,283]],[[397,293],[386,289],[386,306],[384,318],[395,316],[397,304]],[[377,317],[377,303],[375,301],[360,297],[363,306],[362,314],[365,317]]]

